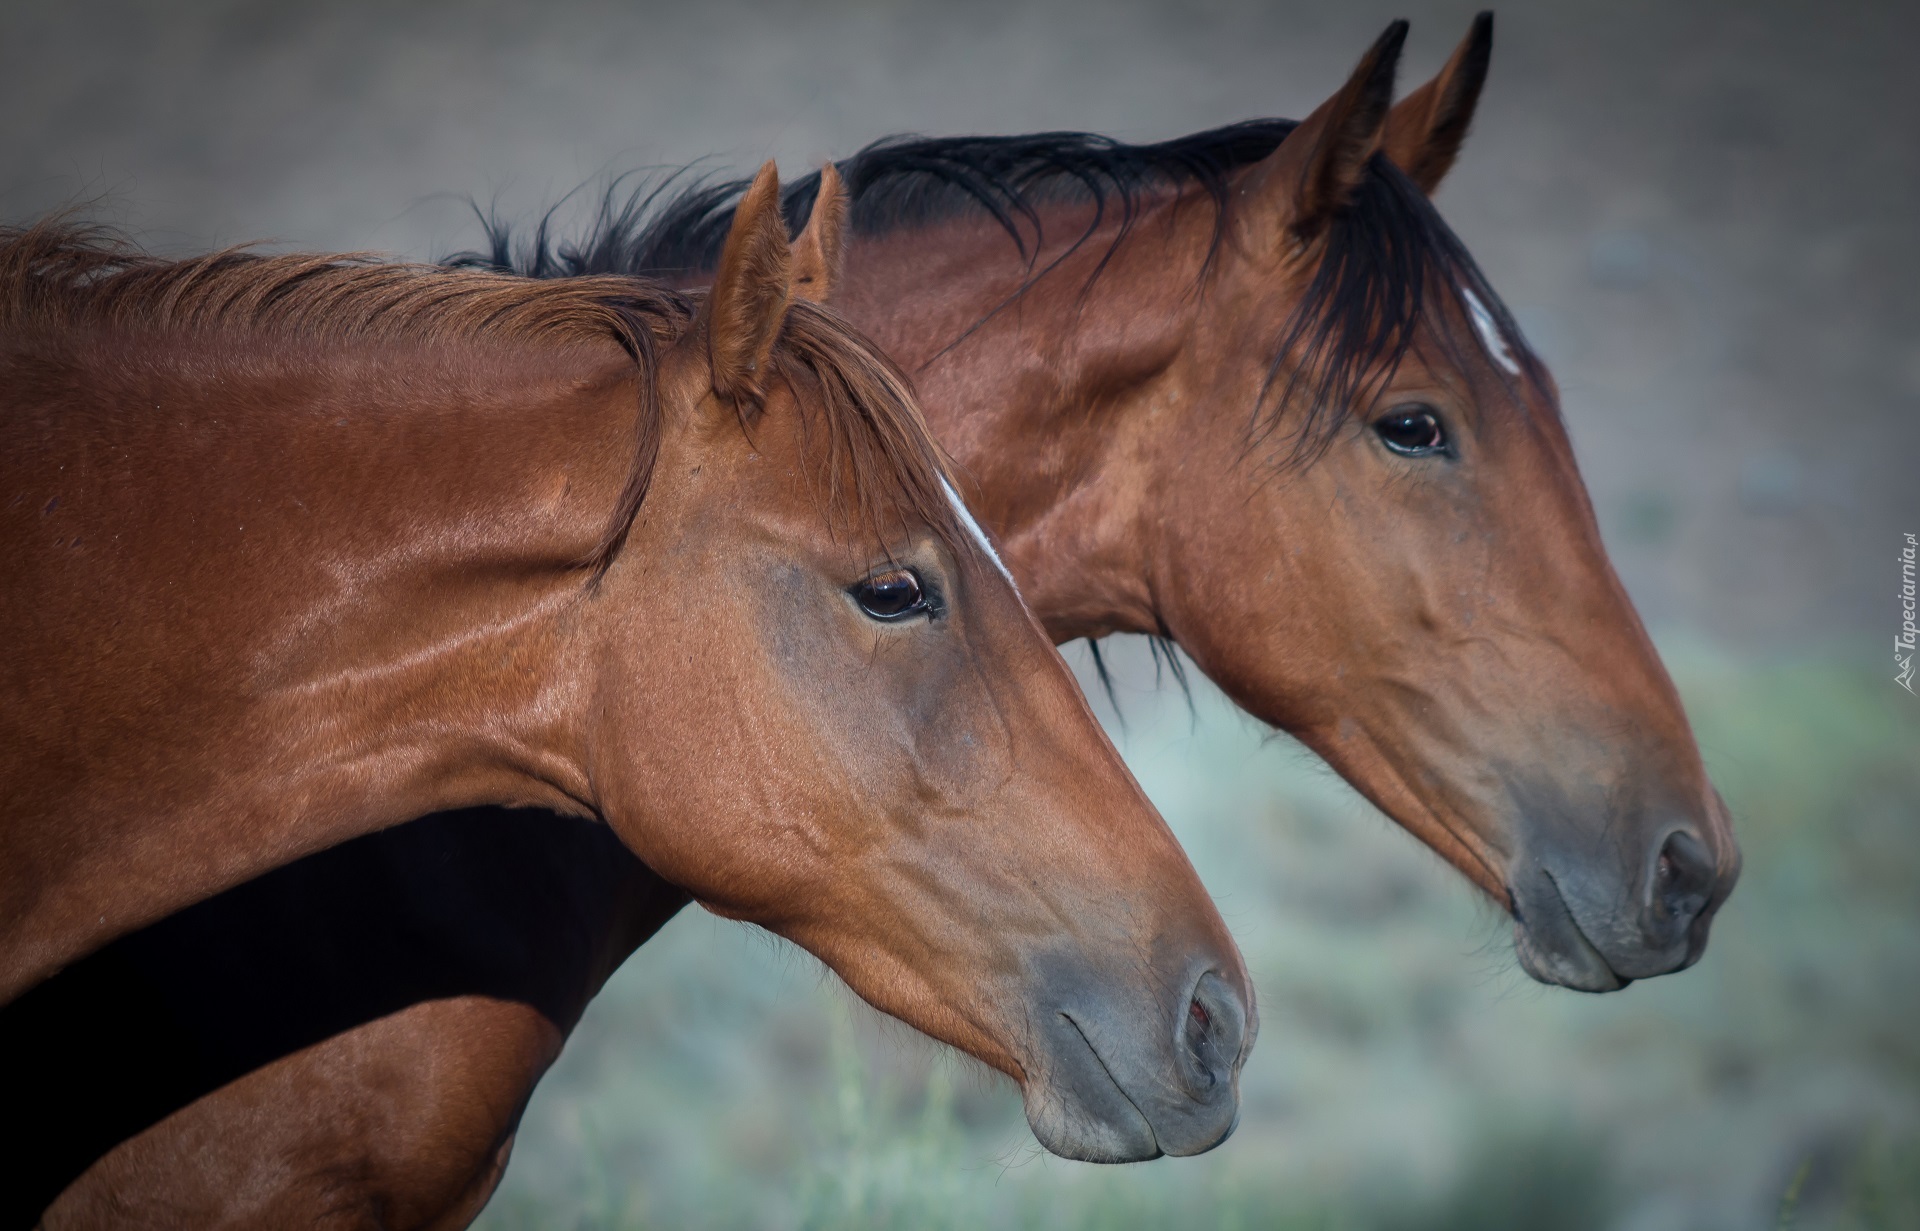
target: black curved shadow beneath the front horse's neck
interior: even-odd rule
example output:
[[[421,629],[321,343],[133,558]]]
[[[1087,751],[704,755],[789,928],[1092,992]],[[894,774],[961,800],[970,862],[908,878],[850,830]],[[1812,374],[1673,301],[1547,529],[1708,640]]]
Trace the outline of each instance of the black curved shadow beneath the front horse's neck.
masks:
[[[0,1008],[0,1229],[204,1095],[409,1004],[518,1001],[564,1035],[685,901],[601,824],[468,809],[121,937]]]

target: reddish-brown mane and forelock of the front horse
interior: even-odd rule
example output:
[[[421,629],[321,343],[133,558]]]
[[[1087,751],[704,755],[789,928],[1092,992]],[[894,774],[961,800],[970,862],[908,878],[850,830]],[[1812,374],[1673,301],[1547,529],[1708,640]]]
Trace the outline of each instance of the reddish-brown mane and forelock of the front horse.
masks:
[[[71,348],[75,334],[123,332],[236,342],[580,346],[616,344],[639,386],[636,451],[599,542],[580,561],[597,578],[647,497],[666,413],[666,346],[695,328],[705,292],[636,275],[536,280],[369,257],[225,250],[180,261],[150,255],[98,227],[61,219],[0,227],[0,336]],[[92,348],[90,353],[111,353]],[[947,461],[920,417],[912,382],[831,313],[795,302],[774,350],[804,432],[826,428],[829,465],[816,492],[843,526],[885,536],[918,520],[956,553],[968,532],[947,499]],[[743,424],[762,407],[739,407]],[[822,480],[816,480],[822,482]]]

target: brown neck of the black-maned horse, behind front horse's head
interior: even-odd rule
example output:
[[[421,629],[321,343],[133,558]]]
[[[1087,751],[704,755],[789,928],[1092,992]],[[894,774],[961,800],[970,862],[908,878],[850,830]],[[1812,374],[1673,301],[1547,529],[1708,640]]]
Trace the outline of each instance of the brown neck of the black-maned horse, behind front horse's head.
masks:
[[[914,374],[1054,641],[1162,632],[1150,536],[1175,459],[1140,394],[1188,336],[1206,252],[1192,221],[1208,213],[1171,205],[1148,204],[1125,236],[1106,223],[1071,252],[1089,207],[1043,207],[1048,242],[1031,261],[977,217],[860,238],[835,292]]]

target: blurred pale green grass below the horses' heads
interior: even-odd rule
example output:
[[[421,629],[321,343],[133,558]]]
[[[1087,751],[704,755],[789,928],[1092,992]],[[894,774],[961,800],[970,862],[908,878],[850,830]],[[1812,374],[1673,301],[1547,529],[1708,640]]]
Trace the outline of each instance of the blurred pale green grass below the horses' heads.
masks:
[[[1920,705],[1864,655],[1663,649],[1747,860],[1678,978],[1532,985],[1438,858],[1116,645],[1116,739],[1260,989],[1233,1141],[1048,1158],[1006,1081],[689,910],[588,1014],[480,1227],[1920,1227]]]

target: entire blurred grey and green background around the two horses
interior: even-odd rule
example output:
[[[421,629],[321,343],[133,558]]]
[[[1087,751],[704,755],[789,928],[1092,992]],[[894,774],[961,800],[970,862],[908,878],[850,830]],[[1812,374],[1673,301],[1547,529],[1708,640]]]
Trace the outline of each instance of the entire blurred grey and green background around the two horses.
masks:
[[[436,257],[478,238],[468,198],[526,215],[639,167],[1300,117],[1388,19],[1413,19],[1407,88],[1473,10],[15,2],[0,221],[86,202],[163,252]],[[1920,532],[1916,46],[1914,4],[1505,6],[1438,198],[1561,382],[1740,816],[1747,876],[1701,968],[1526,985],[1411,839],[1117,647],[1116,737],[1261,979],[1233,1143],[1033,1160],[1004,1089],[689,914],[549,1077],[488,1225],[1678,1229],[1782,1202],[1920,1225],[1920,701],[1885,653]]]

